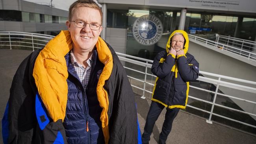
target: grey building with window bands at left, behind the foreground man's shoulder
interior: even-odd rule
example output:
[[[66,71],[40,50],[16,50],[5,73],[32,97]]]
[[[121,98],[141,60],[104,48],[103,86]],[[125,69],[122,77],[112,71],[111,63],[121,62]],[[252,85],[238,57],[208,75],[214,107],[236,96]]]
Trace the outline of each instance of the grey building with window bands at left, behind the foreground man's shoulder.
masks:
[[[0,0],[0,31],[57,35],[66,30],[68,11],[23,0]]]

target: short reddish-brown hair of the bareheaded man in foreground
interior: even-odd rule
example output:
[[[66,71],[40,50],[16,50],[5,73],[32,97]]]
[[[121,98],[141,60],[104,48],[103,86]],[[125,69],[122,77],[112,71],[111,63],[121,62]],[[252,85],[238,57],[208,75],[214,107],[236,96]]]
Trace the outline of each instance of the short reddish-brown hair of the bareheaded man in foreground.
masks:
[[[71,18],[72,18],[74,9],[78,7],[90,7],[98,10],[100,12],[100,23],[102,23],[102,11],[100,7],[96,4],[96,2],[94,2],[93,0],[78,0],[73,4],[71,4],[71,6],[69,7],[69,21],[72,20]]]

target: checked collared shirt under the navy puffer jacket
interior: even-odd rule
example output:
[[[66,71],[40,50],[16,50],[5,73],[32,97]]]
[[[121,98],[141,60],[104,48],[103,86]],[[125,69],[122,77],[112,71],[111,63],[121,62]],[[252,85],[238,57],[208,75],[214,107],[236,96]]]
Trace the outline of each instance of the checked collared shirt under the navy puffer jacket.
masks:
[[[88,66],[84,68],[82,65],[77,63],[76,58],[74,57],[73,51],[72,50],[70,51],[71,64],[72,66],[74,66],[76,73],[78,75],[78,78],[80,79],[80,82],[82,83],[84,89],[86,89],[90,79],[91,65],[93,64],[92,58],[93,58],[93,54],[91,54],[91,57],[86,61]]]

